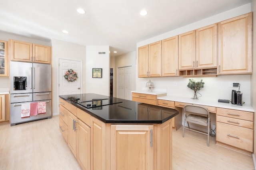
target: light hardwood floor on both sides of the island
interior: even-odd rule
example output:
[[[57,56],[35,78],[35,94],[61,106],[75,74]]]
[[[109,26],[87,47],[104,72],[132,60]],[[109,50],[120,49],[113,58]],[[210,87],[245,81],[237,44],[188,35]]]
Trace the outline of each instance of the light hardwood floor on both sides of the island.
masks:
[[[64,141],[58,116],[0,125],[0,170],[80,170]],[[186,130],[186,129],[185,129]],[[182,128],[173,131],[173,170],[252,170],[252,157],[215,145],[210,137]]]

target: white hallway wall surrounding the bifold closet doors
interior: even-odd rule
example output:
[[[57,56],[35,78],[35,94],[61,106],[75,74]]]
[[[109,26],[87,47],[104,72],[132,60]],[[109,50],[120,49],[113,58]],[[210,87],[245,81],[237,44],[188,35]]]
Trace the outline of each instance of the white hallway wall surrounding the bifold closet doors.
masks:
[[[136,51],[126,53],[115,57],[115,66],[113,68],[113,97],[117,97],[117,79],[118,68],[125,66],[132,66],[132,90],[136,90]]]

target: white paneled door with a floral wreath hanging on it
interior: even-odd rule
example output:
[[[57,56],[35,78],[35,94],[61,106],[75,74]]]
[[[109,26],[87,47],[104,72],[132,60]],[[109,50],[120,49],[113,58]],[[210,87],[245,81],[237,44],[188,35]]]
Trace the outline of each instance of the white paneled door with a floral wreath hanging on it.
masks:
[[[68,82],[68,80],[64,78],[65,72],[70,68],[78,74],[78,78],[73,82]],[[59,59],[59,95],[80,94],[81,81],[81,61]]]

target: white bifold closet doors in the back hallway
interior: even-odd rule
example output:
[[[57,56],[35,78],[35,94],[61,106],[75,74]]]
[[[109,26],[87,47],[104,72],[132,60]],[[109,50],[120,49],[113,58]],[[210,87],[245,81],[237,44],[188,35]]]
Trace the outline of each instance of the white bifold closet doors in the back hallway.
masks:
[[[118,68],[118,98],[132,100],[132,66]]]

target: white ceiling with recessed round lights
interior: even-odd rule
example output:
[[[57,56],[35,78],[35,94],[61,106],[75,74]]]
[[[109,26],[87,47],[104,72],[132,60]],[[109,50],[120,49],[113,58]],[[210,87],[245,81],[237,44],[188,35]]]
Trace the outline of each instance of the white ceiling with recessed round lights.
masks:
[[[0,31],[81,45],[109,45],[111,57],[136,43],[251,0],[1,0]],[[83,8],[86,14],[78,14]],[[140,10],[148,11],[140,16]],[[68,30],[69,34],[62,33]],[[113,51],[118,51],[114,54]]]

